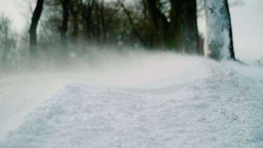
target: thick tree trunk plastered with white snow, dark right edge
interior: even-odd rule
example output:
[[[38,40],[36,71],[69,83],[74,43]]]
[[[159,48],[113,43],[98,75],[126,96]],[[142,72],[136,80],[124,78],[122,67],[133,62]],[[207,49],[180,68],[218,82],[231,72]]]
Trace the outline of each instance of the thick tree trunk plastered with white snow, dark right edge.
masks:
[[[235,59],[227,0],[206,0],[206,56],[216,60]]]

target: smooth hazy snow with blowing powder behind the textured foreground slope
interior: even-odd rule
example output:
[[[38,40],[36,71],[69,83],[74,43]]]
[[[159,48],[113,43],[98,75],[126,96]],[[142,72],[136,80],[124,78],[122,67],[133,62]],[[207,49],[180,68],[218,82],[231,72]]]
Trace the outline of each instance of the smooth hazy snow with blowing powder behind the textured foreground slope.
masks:
[[[89,61],[76,59],[74,67],[63,72],[6,75],[0,72],[0,141],[8,130],[16,129],[23,122],[26,113],[37,108],[64,84],[81,82],[93,88],[114,85],[151,89],[190,82],[208,74],[206,59],[171,52],[111,49],[97,50],[90,56]],[[176,81],[170,81],[171,77],[176,77]]]

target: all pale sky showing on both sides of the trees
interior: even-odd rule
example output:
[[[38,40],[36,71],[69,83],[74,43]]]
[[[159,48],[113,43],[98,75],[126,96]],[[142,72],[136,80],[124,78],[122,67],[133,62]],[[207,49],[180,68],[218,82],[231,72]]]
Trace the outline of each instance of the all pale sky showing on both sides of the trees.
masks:
[[[0,13],[13,20],[13,28],[26,27],[27,0],[0,0]],[[263,57],[263,0],[244,0],[244,5],[230,8],[236,56],[243,60]],[[199,19],[199,31],[205,32],[205,20]]]

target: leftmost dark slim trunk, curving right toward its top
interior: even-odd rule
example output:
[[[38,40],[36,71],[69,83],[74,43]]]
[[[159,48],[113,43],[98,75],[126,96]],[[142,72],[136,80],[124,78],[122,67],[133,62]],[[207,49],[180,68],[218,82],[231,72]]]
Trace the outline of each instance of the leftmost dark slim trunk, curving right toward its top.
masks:
[[[30,35],[30,42],[29,42],[29,50],[30,50],[30,56],[31,58],[36,58],[37,56],[37,27],[38,27],[38,21],[41,16],[41,12],[43,9],[43,2],[44,0],[38,0],[36,9],[33,13],[32,22],[29,29],[29,35]]]

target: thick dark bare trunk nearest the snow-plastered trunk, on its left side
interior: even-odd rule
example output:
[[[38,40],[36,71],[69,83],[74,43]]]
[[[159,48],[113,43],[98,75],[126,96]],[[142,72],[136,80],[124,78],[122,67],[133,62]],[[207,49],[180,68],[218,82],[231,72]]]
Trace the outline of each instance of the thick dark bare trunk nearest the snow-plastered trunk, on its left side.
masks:
[[[185,0],[183,5],[183,46],[188,54],[197,54],[198,29],[196,0]]]

